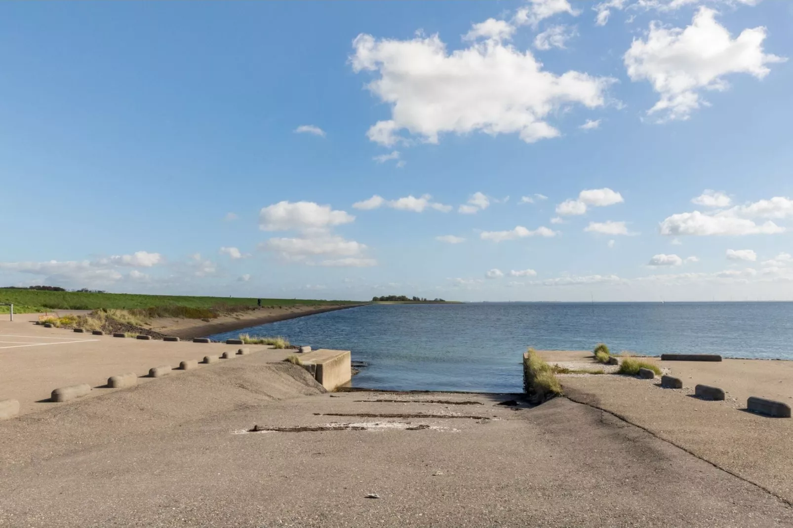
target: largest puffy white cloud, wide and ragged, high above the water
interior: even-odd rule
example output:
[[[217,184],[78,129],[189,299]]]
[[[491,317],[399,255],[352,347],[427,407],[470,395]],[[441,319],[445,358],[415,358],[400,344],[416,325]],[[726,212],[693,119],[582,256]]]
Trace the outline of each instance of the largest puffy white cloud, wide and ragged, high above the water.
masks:
[[[566,0],[557,3],[572,10]],[[532,4],[532,19],[545,17],[546,8],[551,9]],[[494,28],[488,29],[490,35]],[[614,82],[580,71],[544,71],[531,52],[494,38],[449,52],[437,34],[412,40],[361,34],[353,48],[354,71],[374,72],[377,77],[366,87],[391,107],[390,119],[367,132],[370,140],[385,146],[405,143],[403,131],[427,143],[438,143],[444,132],[516,133],[527,143],[553,138],[561,132],[548,117],[571,105],[603,106]]]

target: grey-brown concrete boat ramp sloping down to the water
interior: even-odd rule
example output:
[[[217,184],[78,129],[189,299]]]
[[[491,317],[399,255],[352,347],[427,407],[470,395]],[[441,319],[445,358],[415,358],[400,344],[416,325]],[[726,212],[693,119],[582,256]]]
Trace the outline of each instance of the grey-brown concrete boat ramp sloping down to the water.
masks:
[[[4,420],[0,446],[0,526],[793,526],[592,405],[328,392],[266,351]]]

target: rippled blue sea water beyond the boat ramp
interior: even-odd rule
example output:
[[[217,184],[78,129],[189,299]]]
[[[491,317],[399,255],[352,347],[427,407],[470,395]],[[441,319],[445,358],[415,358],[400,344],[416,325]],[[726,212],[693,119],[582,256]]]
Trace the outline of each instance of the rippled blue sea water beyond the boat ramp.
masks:
[[[519,392],[527,346],[793,359],[793,303],[377,304],[244,331],[352,350],[353,385],[393,390]]]

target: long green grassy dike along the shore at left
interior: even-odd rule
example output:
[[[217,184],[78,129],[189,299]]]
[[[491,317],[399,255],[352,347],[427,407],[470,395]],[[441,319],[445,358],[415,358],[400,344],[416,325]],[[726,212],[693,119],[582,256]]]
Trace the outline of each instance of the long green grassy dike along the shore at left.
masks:
[[[0,288],[0,304],[13,303],[15,313],[53,310],[134,310],[148,317],[188,317],[203,319],[218,312],[256,308],[256,297],[197,297],[181,295],[141,295],[136,293],[58,292],[38,289]],[[262,299],[266,308],[325,304],[361,304],[351,300]],[[8,313],[0,306],[0,313]],[[140,313],[139,312],[139,313]]]

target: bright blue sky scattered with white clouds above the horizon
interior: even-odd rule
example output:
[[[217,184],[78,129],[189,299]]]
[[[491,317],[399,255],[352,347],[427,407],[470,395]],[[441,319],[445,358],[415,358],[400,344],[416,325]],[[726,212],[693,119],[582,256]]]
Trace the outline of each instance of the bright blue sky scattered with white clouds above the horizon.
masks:
[[[793,299],[791,22],[769,0],[6,3],[0,283]]]

